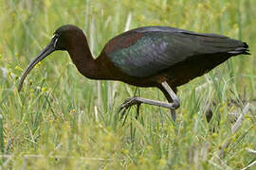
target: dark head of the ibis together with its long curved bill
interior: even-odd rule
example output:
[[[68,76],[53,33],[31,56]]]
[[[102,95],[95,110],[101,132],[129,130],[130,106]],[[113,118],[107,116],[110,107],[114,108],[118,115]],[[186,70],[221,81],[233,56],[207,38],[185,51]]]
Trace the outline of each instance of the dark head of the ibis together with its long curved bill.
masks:
[[[49,54],[56,50],[68,50],[71,44],[76,44],[78,41],[79,35],[81,35],[82,30],[77,26],[65,25],[59,27],[53,34],[51,41],[49,44],[43,49],[39,55],[31,60],[28,64],[26,71],[20,79],[18,91],[20,92],[22,89],[23,82],[27,76],[27,74],[32,70],[32,68],[41,60],[45,59]],[[83,34],[82,34],[83,35]],[[75,42],[74,42],[75,41]]]

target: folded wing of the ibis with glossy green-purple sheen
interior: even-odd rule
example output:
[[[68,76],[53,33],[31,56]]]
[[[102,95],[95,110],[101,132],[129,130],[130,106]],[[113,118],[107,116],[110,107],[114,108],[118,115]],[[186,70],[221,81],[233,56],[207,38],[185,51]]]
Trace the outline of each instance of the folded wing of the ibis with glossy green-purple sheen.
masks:
[[[217,34],[199,34],[167,26],[140,27],[112,39],[104,52],[130,76],[154,76],[178,62],[214,53],[235,55],[244,42]]]

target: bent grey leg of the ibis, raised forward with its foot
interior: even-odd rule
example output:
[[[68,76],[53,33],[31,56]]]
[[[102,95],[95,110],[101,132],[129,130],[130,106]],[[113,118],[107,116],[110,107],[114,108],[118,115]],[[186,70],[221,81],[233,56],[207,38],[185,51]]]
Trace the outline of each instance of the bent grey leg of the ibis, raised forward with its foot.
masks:
[[[170,110],[175,110],[175,109],[179,108],[179,105],[180,105],[179,98],[174,93],[172,88],[168,85],[168,83],[166,81],[162,82],[161,85],[164,88],[164,90],[170,95],[173,102],[166,103],[166,102],[161,102],[161,101],[157,101],[157,100],[152,100],[152,99],[147,99],[147,98],[134,96],[134,97],[127,98],[120,105],[119,111],[124,110],[124,112],[125,112],[125,110],[127,110],[131,106],[140,105],[142,103],[167,108],[167,109],[170,109]],[[122,112],[122,113],[124,114],[124,112]],[[172,118],[175,120],[175,114],[173,114],[173,112],[172,112]]]

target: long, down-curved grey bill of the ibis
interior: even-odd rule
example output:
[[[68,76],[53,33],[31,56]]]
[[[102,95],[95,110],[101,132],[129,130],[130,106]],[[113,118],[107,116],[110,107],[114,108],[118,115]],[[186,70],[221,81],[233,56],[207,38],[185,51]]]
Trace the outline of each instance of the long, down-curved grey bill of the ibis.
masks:
[[[27,69],[26,71],[24,72],[23,76],[21,77],[20,79],[20,83],[19,83],[19,87],[18,87],[18,92],[21,91],[22,89],[22,85],[23,85],[23,82],[27,76],[27,74],[32,70],[32,68],[34,68],[34,66],[40,62],[41,60],[45,59],[49,54],[51,54],[55,49],[54,49],[54,43],[53,42],[50,42],[46,48],[44,50],[42,50],[39,55],[33,59],[29,65],[27,66]]]

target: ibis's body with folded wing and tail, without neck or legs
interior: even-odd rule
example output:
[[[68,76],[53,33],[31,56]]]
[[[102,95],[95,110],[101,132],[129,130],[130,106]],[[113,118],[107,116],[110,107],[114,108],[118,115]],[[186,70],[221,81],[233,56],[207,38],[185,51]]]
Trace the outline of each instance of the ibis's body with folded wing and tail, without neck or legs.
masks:
[[[106,43],[93,71],[101,70],[101,76],[91,78],[160,89],[164,80],[175,89],[239,54],[247,54],[247,44],[225,36],[168,26],[138,27]]]

